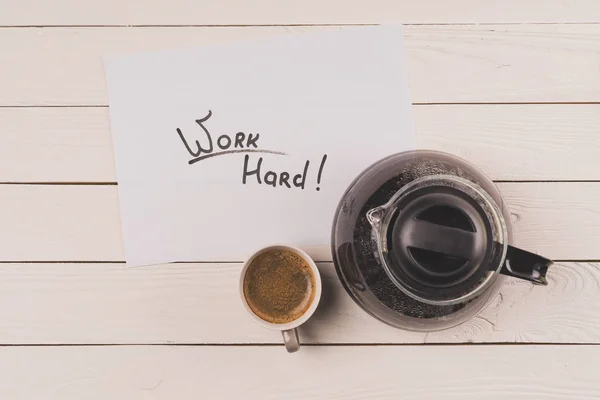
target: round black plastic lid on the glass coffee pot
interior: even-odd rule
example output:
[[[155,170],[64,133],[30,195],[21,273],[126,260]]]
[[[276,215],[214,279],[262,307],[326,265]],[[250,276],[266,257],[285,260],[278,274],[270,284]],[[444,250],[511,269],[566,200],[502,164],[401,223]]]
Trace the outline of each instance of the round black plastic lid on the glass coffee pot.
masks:
[[[421,296],[458,296],[479,282],[492,245],[484,210],[464,192],[424,187],[396,203],[387,230],[390,272]]]

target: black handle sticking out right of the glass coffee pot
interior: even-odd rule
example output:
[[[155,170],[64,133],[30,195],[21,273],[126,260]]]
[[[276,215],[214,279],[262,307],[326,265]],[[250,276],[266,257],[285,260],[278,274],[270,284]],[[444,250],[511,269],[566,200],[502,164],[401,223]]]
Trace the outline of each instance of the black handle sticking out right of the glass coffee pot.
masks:
[[[551,260],[525,250],[508,246],[501,274],[525,279],[536,285],[548,285],[546,272],[553,264]]]

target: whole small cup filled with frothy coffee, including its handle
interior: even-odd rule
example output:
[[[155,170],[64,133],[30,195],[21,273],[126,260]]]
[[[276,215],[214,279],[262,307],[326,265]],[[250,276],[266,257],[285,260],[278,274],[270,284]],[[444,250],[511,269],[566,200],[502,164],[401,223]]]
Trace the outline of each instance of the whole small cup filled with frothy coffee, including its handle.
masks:
[[[251,317],[271,329],[282,331],[286,349],[299,349],[295,328],[317,308],[321,278],[314,261],[291,246],[264,248],[246,261],[240,292]]]

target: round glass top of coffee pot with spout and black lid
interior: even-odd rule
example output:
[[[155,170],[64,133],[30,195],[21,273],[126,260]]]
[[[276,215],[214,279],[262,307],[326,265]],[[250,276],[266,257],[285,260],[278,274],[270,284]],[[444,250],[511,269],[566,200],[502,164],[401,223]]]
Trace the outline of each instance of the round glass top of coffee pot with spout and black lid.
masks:
[[[366,217],[382,268],[419,301],[465,301],[485,290],[501,268],[504,219],[494,200],[464,178],[417,179]]]

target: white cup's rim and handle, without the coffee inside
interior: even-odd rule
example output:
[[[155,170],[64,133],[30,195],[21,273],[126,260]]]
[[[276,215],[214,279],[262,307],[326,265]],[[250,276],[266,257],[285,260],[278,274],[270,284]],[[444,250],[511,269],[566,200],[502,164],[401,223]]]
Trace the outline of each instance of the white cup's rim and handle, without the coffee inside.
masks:
[[[268,251],[289,251],[302,257],[302,259],[305,260],[308,266],[310,267],[313,276],[315,277],[315,297],[312,303],[310,304],[310,306],[304,314],[302,314],[295,320],[286,322],[284,324],[276,324],[273,322],[265,321],[258,315],[254,314],[254,312],[248,305],[248,302],[246,301],[246,296],[244,296],[244,278],[246,277],[246,271],[248,271],[248,267],[250,266],[250,264],[252,264],[252,261],[254,261],[256,257]],[[317,306],[319,305],[319,300],[321,299],[321,289],[321,275],[319,274],[317,265],[312,260],[312,258],[310,258],[308,254],[306,254],[306,252],[294,246],[273,245],[258,250],[250,258],[248,258],[248,260],[246,260],[242,268],[242,273],[240,274],[240,297],[242,298],[242,303],[244,304],[246,311],[248,311],[248,315],[250,316],[250,318],[252,318],[260,325],[264,326],[265,328],[281,331],[281,333],[283,334],[283,342],[285,344],[285,348],[289,353],[295,353],[296,351],[300,350],[300,341],[298,340],[298,331],[296,330],[296,328],[305,323],[317,309]]]

